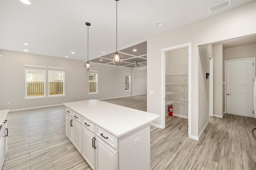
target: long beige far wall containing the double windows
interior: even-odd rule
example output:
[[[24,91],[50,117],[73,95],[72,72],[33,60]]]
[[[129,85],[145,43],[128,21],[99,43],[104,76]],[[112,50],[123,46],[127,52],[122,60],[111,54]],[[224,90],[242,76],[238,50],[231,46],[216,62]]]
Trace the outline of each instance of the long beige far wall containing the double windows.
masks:
[[[1,109],[22,109],[61,104],[86,99],[104,99],[130,96],[125,91],[125,73],[129,67],[92,63],[92,70],[98,70],[98,94],[88,94],[88,71],[84,61],[1,50]],[[42,65],[65,68],[65,97],[24,99],[24,65]],[[79,98],[78,98],[79,96]],[[10,102],[10,105],[7,105]]]

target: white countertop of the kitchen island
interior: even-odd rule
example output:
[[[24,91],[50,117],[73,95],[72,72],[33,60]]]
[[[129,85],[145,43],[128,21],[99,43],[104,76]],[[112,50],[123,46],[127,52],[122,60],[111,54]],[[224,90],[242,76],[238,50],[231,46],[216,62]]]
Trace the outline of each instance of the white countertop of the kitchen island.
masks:
[[[142,127],[159,117],[159,115],[153,113],[99,100],[85,100],[63,104],[117,137]]]

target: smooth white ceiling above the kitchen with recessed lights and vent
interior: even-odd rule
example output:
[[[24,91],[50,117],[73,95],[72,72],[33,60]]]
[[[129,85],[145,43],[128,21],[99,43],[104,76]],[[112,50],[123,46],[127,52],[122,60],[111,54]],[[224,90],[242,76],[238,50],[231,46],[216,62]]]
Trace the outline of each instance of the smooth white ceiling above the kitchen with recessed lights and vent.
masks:
[[[174,28],[236,8],[250,1],[232,0],[232,5],[208,13],[207,8],[224,0],[120,0],[118,1],[118,48],[141,42]],[[116,48],[116,1],[114,0],[0,0],[0,48],[12,51],[69,56],[87,60]],[[157,27],[156,23],[163,25]],[[29,45],[23,45],[28,43]],[[71,52],[74,51],[75,54]]]

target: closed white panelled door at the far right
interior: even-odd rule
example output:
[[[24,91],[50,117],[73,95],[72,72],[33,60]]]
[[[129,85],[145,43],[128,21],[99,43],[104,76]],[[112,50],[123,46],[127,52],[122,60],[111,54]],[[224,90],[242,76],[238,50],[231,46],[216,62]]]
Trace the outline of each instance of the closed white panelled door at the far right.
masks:
[[[226,62],[226,112],[254,117],[253,59]]]

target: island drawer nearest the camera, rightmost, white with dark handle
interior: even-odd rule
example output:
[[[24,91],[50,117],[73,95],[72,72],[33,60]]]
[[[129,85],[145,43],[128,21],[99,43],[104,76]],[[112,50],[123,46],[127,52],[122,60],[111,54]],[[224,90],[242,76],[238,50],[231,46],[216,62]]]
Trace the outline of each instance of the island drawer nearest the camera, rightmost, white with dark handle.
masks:
[[[118,137],[110,134],[106,130],[98,127],[96,125],[96,135],[99,136],[102,140],[113,146],[116,150],[118,150]]]

